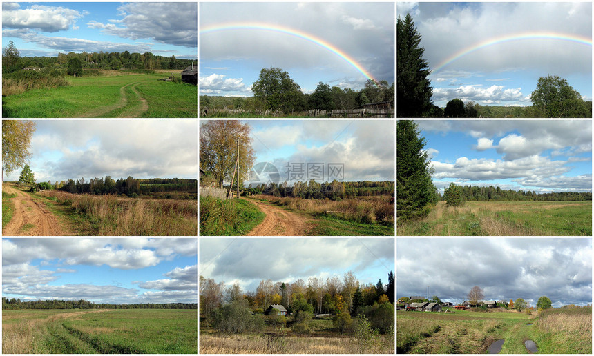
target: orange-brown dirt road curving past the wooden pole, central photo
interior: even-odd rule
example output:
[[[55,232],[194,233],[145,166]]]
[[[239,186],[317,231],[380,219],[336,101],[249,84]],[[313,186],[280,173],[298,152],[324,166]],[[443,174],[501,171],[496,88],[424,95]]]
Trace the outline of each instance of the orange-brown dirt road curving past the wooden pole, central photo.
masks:
[[[278,206],[266,204],[257,199],[249,199],[266,214],[264,221],[253,228],[246,236],[306,236],[312,224],[302,215]]]

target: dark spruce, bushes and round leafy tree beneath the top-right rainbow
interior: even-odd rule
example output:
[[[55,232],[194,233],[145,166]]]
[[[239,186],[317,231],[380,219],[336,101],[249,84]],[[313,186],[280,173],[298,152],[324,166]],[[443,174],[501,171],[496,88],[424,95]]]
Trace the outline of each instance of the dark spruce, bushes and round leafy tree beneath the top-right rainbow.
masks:
[[[396,39],[397,117],[592,117],[592,101],[584,101],[566,79],[557,75],[540,77],[530,93],[532,106],[509,109],[512,114],[500,116],[501,110],[481,107],[472,101],[465,104],[458,98],[450,100],[446,108],[439,108],[431,99],[431,69],[423,58],[421,34],[410,14],[404,19],[398,17]]]

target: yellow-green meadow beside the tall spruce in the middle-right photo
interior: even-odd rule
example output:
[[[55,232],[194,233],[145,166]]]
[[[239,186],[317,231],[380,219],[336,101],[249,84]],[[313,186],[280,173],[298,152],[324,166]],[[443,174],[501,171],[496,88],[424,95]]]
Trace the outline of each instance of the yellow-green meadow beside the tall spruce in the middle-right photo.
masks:
[[[440,201],[423,219],[397,224],[399,236],[590,236],[592,201]]]

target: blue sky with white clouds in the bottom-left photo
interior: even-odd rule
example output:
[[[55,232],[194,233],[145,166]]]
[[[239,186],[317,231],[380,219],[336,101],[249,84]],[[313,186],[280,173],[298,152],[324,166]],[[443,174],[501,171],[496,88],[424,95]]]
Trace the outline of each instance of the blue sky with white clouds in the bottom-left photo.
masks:
[[[3,239],[2,296],[196,303],[193,239]]]

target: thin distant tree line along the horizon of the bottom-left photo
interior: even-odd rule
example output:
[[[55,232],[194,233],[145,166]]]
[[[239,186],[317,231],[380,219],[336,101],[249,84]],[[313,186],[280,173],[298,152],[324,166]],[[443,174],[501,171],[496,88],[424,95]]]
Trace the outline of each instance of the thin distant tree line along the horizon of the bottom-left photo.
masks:
[[[197,309],[196,303],[142,303],[142,304],[106,304],[80,300],[37,300],[21,301],[21,299],[2,298],[3,310],[18,309]]]

